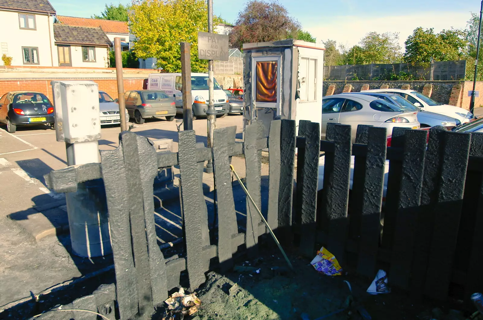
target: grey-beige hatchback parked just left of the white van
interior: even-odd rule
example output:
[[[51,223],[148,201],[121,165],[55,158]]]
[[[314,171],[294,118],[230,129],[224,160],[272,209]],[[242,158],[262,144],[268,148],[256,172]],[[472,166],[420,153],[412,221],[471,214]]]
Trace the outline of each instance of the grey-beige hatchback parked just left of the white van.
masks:
[[[148,118],[166,117],[166,120],[173,121],[176,115],[174,97],[169,97],[163,91],[126,91],[124,100],[129,117],[134,118],[137,124],[143,124]]]

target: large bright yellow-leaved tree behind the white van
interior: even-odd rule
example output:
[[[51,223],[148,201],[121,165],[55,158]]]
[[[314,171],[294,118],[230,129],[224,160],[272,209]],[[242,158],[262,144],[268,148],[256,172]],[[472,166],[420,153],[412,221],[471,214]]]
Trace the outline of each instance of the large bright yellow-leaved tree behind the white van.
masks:
[[[213,23],[219,23],[214,17]],[[145,0],[133,3],[129,28],[136,36],[137,57],[157,58],[157,67],[167,72],[181,70],[180,42],[191,43],[191,70],[204,72],[207,60],[198,59],[198,32],[207,31],[208,7],[204,0]]]

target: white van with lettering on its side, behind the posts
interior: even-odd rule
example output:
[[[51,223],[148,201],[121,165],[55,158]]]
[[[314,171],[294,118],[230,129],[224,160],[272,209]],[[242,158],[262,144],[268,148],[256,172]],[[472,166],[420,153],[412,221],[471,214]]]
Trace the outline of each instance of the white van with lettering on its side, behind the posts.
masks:
[[[169,96],[174,96],[176,113],[183,114],[183,83],[181,73],[150,73],[148,90],[162,90]],[[193,117],[206,115],[209,103],[208,73],[191,73],[191,103]],[[224,117],[230,110],[227,94],[214,79],[214,109],[216,115]]]

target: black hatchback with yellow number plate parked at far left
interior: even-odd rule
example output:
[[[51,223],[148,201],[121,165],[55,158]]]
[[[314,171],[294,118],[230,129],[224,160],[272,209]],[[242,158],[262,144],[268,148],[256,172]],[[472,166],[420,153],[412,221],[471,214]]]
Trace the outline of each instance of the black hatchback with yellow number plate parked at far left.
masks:
[[[54,129],[54,106],[40,92],[11,91],[0,98],[0,122],[14,133],[17,125],[50,125]]]

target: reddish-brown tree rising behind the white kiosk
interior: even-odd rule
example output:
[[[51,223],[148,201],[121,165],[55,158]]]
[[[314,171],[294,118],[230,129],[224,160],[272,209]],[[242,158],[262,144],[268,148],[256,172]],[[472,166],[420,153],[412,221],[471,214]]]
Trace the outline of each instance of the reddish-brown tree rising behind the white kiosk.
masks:
[[[299,30],[298,21],[277,1],[251,0],[238,14],[230,43],[241,48],[243,43],[297,38]]]

